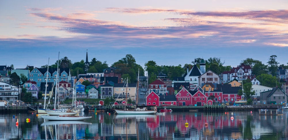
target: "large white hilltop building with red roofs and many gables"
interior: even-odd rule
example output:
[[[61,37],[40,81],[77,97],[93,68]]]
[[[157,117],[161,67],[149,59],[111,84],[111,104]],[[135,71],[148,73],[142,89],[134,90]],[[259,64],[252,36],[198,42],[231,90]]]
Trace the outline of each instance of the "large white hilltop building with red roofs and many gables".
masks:
[[[230,71],[224,71],[220,75],[220,82],[227,83],[234,79],[241,82],[242,80],[246,80],[248,77],[251,77],[252,69],[250,66],[239,65],[237,67],[233,67]]]

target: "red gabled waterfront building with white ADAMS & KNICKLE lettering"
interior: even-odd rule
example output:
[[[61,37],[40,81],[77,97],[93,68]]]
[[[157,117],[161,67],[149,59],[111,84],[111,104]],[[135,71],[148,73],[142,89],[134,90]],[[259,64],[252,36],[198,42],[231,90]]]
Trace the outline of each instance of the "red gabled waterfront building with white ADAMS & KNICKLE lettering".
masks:
[[[192,95],[186,88],[182,88],[177,94],[176,94],[176,101],[177,106],[185,106],[185,105],[191,105],[192,104]]]

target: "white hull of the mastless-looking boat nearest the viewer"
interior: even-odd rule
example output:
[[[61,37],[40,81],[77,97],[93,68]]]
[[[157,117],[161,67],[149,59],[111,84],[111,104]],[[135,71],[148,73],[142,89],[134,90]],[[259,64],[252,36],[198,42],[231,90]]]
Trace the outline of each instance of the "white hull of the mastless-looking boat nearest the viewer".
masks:
[[[46,120],[62,120],[62,121],[71,121],[71,120],[86,120],[90,119],[89,117],[83,117],[83,116],[67,116],[67,115],[58,115],[58,116],[41,116],[42,118]]]

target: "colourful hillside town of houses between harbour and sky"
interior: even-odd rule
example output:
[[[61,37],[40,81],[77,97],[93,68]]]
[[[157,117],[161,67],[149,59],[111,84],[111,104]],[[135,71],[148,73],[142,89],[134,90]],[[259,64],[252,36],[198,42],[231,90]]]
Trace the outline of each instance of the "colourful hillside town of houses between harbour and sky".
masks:
[[[186,71],[181,77],[173,80],[163,73],[154,78],[140,76],[141,91],[134,82],[138,77],[135,80],[130,79],[128,84],[125,83],[128,77],[123,77],[125,73],[119,67],[105,67],[101,72],[89,72],[88,52],[83,72],[77,71],[77,75],[72,75],[71,69],[65,67],[57,69],[27,65],[23,69],[14,69],[1,65],[0,101],[3,105],[21,105],[27,102],[21,100],[22,96],[22,99],[28,98],[28,102],[33,103],[33,99],[44,99],[45,94],[47,99],[54,97],[56,90],[57,96],[64,101],[72,98],[75,87],[76,97],[101,99],[102,104],[107,98],[115,100],[114,104],[123,104],[128,100],[133,104],[139,93],[144,95],[142,104],[147,106],[203,106],[221,103],[235,105],[237,101],[247,101],[248,104],[287,103],[288,69],[278,67],[272,74],[268,71],[266,75],[273,75],[277,80],[270,81],[272,84],[275,82],[275,86],[268,87],[262,85],[263,79],[257,79],[249,65],[238,65],[217,74],[207,69],[204,59],[199,61],[200,63],[197,63],[195,59],[191,65],[184,67]],[[13,75],[19,77],[19,84],[15,84]]]

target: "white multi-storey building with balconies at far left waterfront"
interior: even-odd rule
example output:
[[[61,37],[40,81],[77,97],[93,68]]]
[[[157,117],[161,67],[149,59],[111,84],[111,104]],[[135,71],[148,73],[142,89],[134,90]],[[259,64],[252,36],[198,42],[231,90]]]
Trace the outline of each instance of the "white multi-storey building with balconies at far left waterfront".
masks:
[[[10,103],[15,103],[18,100],[18,95],[21,93],[21,88],[9,83],[0,82],[0,100],[5,100]]]

